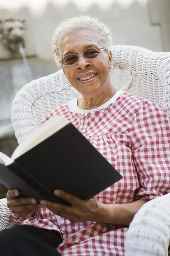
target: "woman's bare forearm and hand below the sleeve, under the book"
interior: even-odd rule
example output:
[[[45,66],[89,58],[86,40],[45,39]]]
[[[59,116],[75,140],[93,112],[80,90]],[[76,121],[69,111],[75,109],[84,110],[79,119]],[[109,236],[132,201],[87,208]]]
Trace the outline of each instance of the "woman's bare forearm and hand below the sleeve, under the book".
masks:
[[[89,200],[81,200],[61,190],[54,191],[54,195],[68,201],[71,206],[45,200],[41,201],[41,204],[51,212],[67,218],[71,223],[95,221],[128,226],[136,212],[146,202],[140,199],[130,204],[102,204],[96,197]]]

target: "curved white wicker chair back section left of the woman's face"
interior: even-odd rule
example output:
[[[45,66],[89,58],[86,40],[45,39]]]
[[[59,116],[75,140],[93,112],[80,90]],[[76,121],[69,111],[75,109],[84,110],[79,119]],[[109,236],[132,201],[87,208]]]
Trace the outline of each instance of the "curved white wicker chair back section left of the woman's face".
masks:
[[[11,122],[18,143],[41,125],[52,108],[78,95],[62,70],[26,84],[16,94],[11,106]]]

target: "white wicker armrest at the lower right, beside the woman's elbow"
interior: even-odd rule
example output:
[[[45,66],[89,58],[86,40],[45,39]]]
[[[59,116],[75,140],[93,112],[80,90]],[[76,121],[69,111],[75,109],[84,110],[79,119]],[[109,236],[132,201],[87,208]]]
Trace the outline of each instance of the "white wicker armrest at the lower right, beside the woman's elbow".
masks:
[[[167,256],[170,193],[151,200],[136,213],[125,241],[125,256]]]

